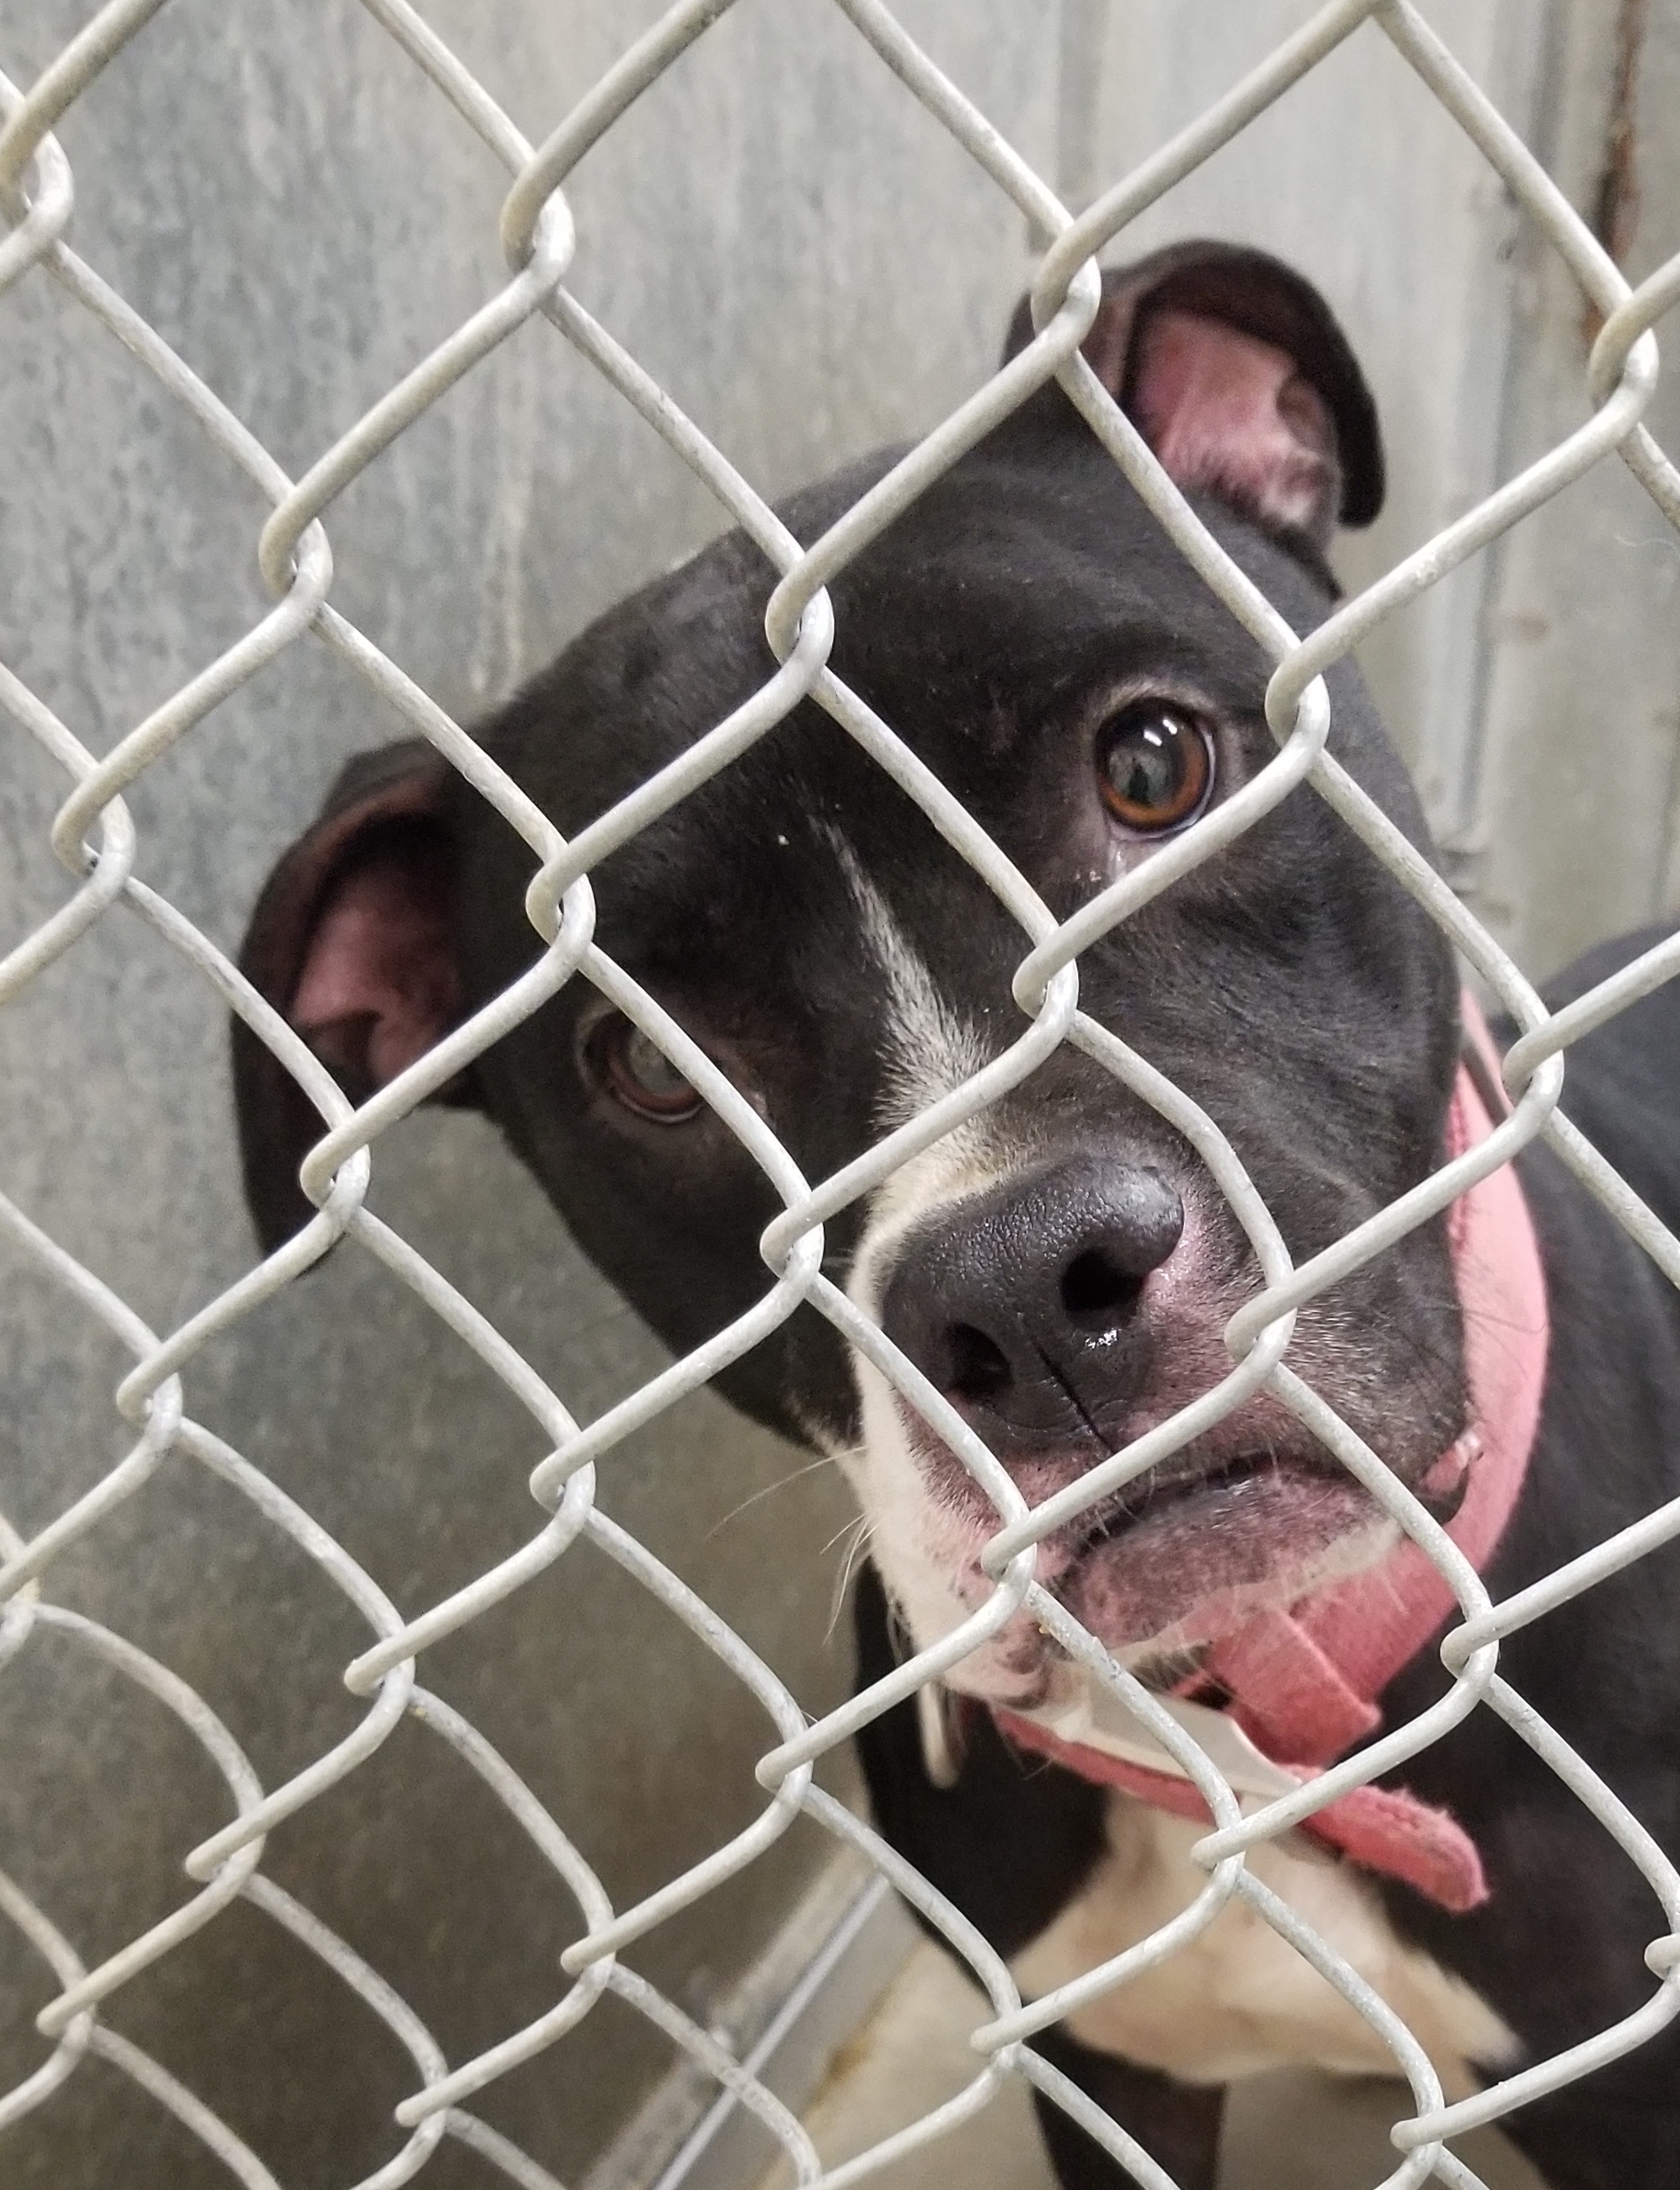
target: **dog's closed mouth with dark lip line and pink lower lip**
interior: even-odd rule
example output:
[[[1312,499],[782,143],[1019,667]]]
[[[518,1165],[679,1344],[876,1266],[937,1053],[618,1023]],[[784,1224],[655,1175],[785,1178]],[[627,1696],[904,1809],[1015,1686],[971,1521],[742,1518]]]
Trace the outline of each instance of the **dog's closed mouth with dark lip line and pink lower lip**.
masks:
[[[1108,1649],[1183,1649],[1356,1572],[1386,1533],[1334,1463],[1244,1454],[1130,1487],[1095,1526],[1054,1540],[1045,1579]]]

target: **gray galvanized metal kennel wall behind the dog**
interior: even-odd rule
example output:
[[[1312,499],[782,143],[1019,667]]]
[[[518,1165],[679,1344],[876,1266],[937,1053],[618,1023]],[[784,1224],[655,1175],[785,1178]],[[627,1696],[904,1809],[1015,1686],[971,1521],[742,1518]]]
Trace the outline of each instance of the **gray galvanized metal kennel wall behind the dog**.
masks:
[[[541,136],[657,13],[438,0],[429,20]],[[1130,166],[1303,20],[1299,0],[927,0],[909,28],[1071,201]],[[31,77],[79,0],[9,0]],[[1432,9],[1638,278],[1680,243],[1680,4]],[[1638,46],[1634,44],[1638,33]],[[72,241],[298,475],[502,280],[502,175],[350,0],[171,0],[70,110]],[[743,0],[569,184],[569,285],[762,488],[951,410],[1027,269],[1019,219],[821,0]],[[1389,429],[1391,504],[1345,567],[1386,567],[1584,416],[1579,298],[1402,64],[1358,42],[1137,228],[1249,237],[1310,272]],[[0,300],[0,659],[105,751],[263,609],[258,497],[44,274]],[[1649,416],[1676,442],[1673,374]],[[718,526],[703,493],[550,328],[526,326],[331,515],[333,598],[460,718]],[[1531,972],[1676,896],[1680,556],[1616,469],[1384,629],[1369,657],[1454,878]],[[342,758],[368,690],[287,650],[131,795],[138,872],[223,946]],[[64,780],[0,731],[0,946],[64,898]],[[136,922],[103,922],[0,1018],[0,1189],[158,1327],[254,1259],[226,1036]],[[580,1417],[657,1351],[491,1134],[427,1115],[381,1143],[377,1207]],[[28,1533],[112,1465],[127,1367],[0,1250],[0,1507]],[[523,1542],[530,1424],[366,1257],[342,1253],[199,1356],[193,1408],[418,1607]],[[810,1710],[845,1684],[828,1469],[699,1399],[605,1465],[602,1502]],[[753,1500],[753,1502],[747,1502]],[[462,1531],[471,1513],[471,1531]],[[228,1719],[267,1783],[348,1728],[361,1647],[333,1592],[186,1463],[55,1568]],[[427,1669],[552,1800],[622,1901],[756,1809],[762,1719],[585,1548]],[[0,1682],[0,1862],[94,1958],[180,1899],[219,1789],[162,1713],[68,1651]],[[635,1956],[727,2015],[824,1848],[804,1829]],[[497,1807],[407,1728],[276,1833],[265,1862],[416,2004],[451,2059],[554,1995],[569,1905]],[[0,2087],[39,2056],[42,1973],[0,1927]],[[230,1910],[120,1995],[118,2028],[287,2186],[390,2148],[410,2070],[272,1927]],[[484,2116],[580,2175],[666,2065],[605,2002]],[[221,2181],[96,2070],[9,2140],[4,2181]],[[482,2181],[440,2153],[427,2181]]]

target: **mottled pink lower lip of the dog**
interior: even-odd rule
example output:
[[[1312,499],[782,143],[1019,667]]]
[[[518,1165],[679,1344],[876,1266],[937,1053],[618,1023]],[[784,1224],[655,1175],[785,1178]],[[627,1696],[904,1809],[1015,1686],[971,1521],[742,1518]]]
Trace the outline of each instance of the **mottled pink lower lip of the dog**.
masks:
[[[1111,1649],[1205,1642],[1279,1601],[1290,1577],[1305,1583],[1369,1520],[1371,1500],[1351,1480],[1292,1467],[1238,1476],[1146,1509],[1080,1559],[1060,1597]]]

